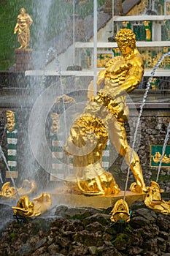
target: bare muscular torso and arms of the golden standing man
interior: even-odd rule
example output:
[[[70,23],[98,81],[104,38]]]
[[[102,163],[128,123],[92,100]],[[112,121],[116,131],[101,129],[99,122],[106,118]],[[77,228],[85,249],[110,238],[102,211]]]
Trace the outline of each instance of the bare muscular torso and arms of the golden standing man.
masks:
[[[116,56],[106,64],[106,69],[98,74],[98,83],[104,82],[104,88],[98,91],[98,96],[109,96],[112,113],[117,118],[128,116],[125,96],[139,86],[144,73],[144,63],[138,50],[129,59]],[[101,96],[103,97],[103,96]],[[96,101],[94,99],[94,101]],[[111,108],[110,108],[111,109]],[[114,111],[115,110],[115,111]]]

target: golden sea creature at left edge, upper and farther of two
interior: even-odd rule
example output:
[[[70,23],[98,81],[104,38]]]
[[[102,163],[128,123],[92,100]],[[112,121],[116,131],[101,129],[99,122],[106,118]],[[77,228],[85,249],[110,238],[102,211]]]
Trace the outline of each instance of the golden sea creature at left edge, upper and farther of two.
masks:
[[[23,184],[18,189],[15,187],[11,187],[10,181],[4,183],[1,187],[0,196],[1,197],[8,197],[8,198],[17,198],[18,195],[32,195],[36,193],[37,187],[34,181],[28,181],[27,179],[23,181]]]

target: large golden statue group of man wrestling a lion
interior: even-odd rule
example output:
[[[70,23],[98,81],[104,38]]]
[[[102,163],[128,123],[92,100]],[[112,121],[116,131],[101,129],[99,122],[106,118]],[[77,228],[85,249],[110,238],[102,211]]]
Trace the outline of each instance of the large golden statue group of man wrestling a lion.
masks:
[[[105,69],[98,73],[96,96],[93,80],[90,82],[87,106],[72,125],[64,147],[66,154],[73,156],[77,184],[86,195],[108,195],[120,191],[112,175],[101,167],[102,151],[108,137],[131,167],[136,179],[131,190],[147,192],[139,157],[135,151],[131,156],[125,132],[125,121],[129,115],[125,97],[141,83],[144,61],[136,48],[136,36],[131,29],[120,29],[115,39],[122,55],[108,61]]]

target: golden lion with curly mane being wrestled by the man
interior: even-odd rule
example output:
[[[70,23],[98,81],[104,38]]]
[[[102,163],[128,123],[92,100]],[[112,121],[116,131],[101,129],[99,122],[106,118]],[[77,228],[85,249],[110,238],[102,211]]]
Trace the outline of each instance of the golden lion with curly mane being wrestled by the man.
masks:
[[[117,195],[120,192],[112,174],[101,167],[102,151],[107,140],[106,127],[93,116],[81,116],[71,128],[65,151],[68,154],[69,151],[76,153],[77,150],[73,165],[77,169],[77,187],[85,195]]]

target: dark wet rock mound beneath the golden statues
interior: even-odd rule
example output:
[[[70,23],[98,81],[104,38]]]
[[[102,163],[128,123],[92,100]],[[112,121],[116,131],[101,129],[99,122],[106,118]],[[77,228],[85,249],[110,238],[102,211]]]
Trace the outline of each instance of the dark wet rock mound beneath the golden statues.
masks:
[[[170,253],[169,216],[141,206],[142,203],[139,208],[135,206],[131,221],[121,225],[111,222],[106,210],[96,210],[93,214],[93,208],[70,211],[83,215],[87,210],[88,217],[84,215],[83,219],[74,219],[76,214],[72,214],[73,218],[11,222],[1,233],[0,255],[162,256]],[[69,208],[65,210],[69,212]]]

